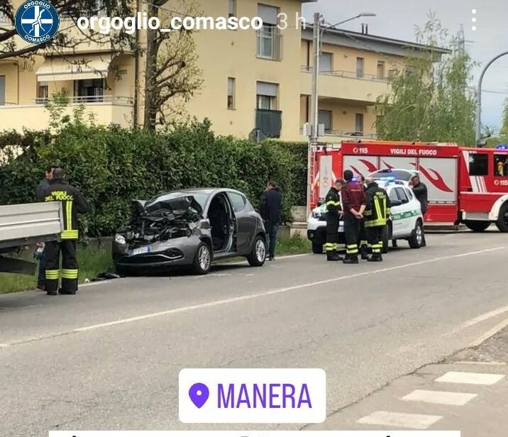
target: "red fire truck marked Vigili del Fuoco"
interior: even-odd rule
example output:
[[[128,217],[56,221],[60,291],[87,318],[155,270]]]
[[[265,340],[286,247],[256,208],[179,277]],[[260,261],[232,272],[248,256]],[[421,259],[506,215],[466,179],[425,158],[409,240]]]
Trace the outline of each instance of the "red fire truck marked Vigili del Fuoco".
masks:
[[[318,145],[311,157],[311,208],[348,169],[357,177],[379,170],[417,171],[429,191],[426,223],[465,223],[475,232],[495,223],[508,232],[506,145],[491,149],[363,140]]]

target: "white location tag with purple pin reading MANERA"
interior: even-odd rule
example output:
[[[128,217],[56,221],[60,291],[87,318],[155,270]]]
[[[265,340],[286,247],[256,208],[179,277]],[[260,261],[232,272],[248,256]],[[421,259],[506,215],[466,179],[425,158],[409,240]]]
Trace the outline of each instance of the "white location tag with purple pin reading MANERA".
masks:
[[[322,369],[183,369],[180,421],[311,424],[326,419]]]

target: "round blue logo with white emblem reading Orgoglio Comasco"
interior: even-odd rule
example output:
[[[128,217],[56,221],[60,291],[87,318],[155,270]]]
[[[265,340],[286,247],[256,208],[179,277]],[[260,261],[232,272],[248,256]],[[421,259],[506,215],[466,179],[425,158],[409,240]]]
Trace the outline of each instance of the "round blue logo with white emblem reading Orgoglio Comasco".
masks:
[[[47,43],[60,26],[53,4],[45,0],[28,0],[19,6],[14,17],[18,35],[31,44]]]

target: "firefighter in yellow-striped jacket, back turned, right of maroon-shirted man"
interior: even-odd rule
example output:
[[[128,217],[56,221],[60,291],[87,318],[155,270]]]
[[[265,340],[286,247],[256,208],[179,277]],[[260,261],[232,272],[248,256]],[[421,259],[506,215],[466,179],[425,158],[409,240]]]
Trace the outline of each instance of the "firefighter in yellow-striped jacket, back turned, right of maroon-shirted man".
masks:
[[[390,198],[387,192],[379,187],[372,178],[367,179],[365,192],[365,231],[372,247],[372,256],[368,261],[382,261],[382,231],[390,215]]]

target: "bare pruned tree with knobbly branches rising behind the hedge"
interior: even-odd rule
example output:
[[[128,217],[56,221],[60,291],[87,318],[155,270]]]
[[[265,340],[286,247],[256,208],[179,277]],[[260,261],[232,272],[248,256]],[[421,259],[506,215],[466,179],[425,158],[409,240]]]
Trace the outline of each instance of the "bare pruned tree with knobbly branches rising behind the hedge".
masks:
[[[172,16],[192,16],[197,12],[193,1],[180,0],[179,11],[165,8],[168,0],[153,0],[148,4],[148,16],[170,23]],[[172,2],[172,4],[175,4]],[[153,130],[158,124],[167,124],[171,114],[170,103],[177,98],[187,101],[201,87],[201,70],[192,32],[185,29],[163,32],[148,29],[145,67],[144,125]]]

